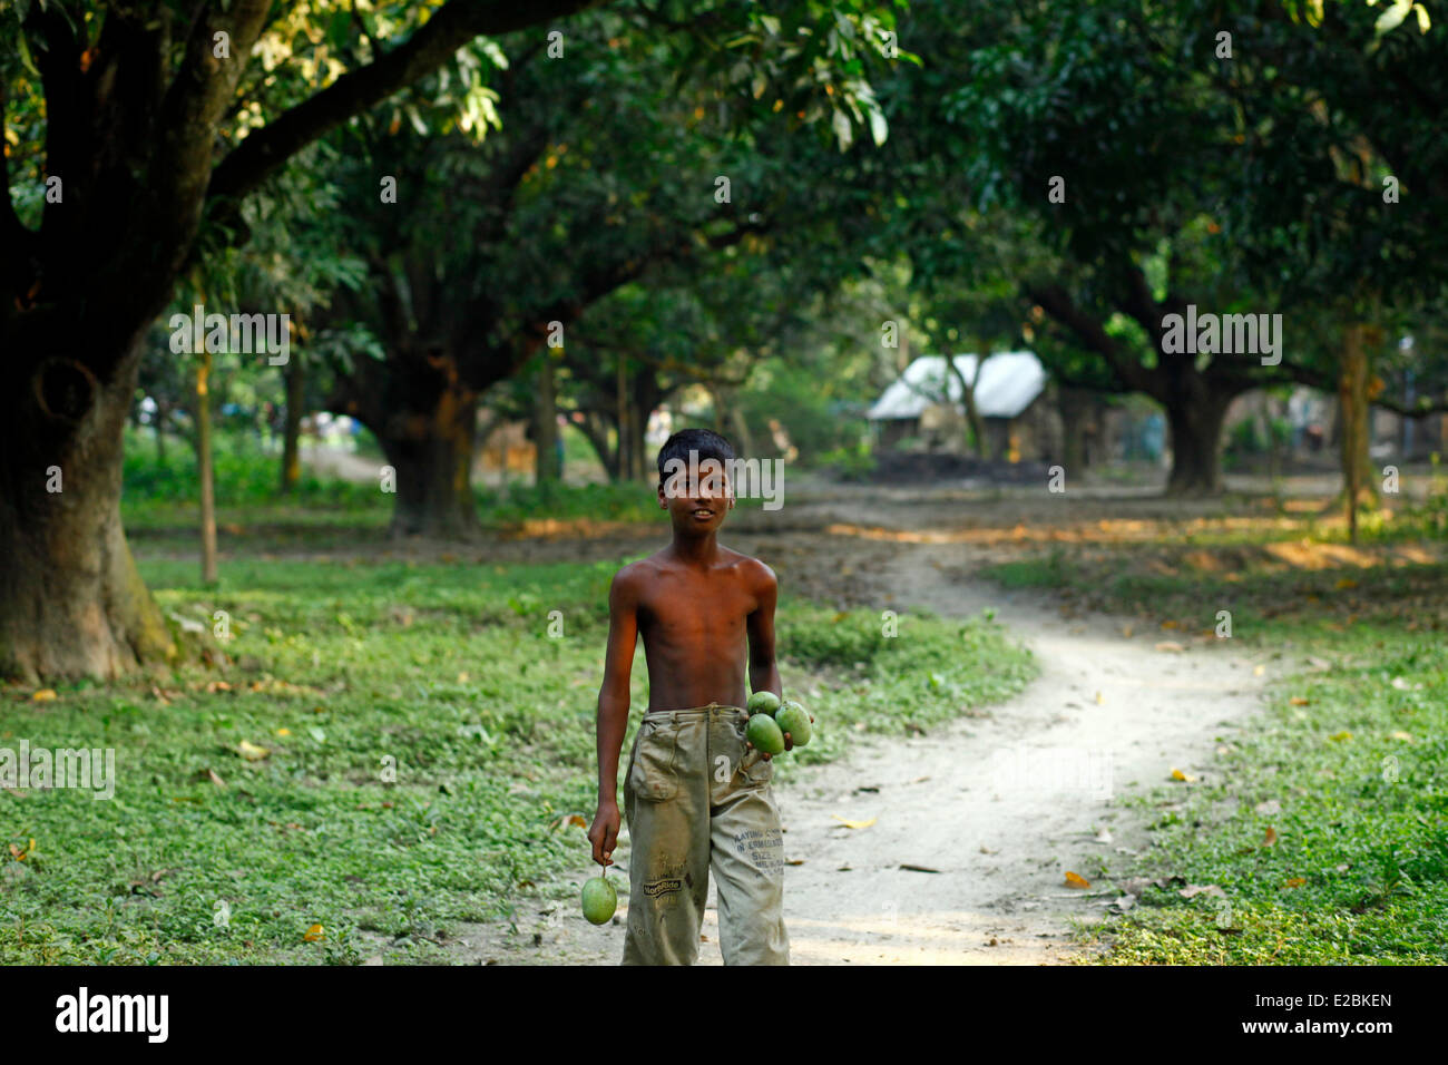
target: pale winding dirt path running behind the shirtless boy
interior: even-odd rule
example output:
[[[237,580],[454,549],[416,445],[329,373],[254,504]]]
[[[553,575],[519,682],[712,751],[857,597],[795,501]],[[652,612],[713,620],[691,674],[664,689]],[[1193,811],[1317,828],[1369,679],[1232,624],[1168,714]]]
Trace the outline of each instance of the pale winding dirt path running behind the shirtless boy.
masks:
[[[1038,597],[970,580],[980,549],[951,535],[961,513],[941,494],[847,490],[798,501],[788,535],[762,520],[741,523],[730,540],[766,558],[824,559],[815,581],[853,603],[902,610],[902,635],[911,606],[947,616],[990,607],[1041,665],[1025,693],[980,717],[909,740],[866,738],[846,759],[804,767],[776,788],[785,858],[796,862],[785,895],[794,964],[1034,965],[1079,953],[1073,924],[1099,920],[1118,894],[1111,878],[1098,880],[1099,862],[1119,868],[1118,851],[1147,845],[1141,816],[1121,797],[1166,782],[1173,768],[1211,778],[1218,738],[1254,711],[1270,680],[1270,668],[1258,672],[1229,640],[1063,617]],[[792,542],[801,530],[812,536]],[[1182,649],[1157,646],[1169,642]],[[850,829],[838,819],[873,823]],[[627,861],[624,842],[621,885]],[[1067,888],[1067,871],[1092,887]],[[711,884],[705,965],[721,964],[714,904]],[[527,919],[517,933],[458,930],[456,955],[613,965],[626,906],[621,898],[615,923],[597,929],[575,898],[539,898],[520,907]]]

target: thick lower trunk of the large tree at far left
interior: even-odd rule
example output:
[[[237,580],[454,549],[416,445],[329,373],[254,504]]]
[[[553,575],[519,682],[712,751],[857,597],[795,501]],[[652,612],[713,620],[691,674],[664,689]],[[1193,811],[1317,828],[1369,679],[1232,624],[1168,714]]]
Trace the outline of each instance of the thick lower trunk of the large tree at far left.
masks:
[[[138,365],[132,352],[113,380],[97,381],[54,356],[3,390],[3,675],[114,678],[177,653],[120,525],[122,427]]]

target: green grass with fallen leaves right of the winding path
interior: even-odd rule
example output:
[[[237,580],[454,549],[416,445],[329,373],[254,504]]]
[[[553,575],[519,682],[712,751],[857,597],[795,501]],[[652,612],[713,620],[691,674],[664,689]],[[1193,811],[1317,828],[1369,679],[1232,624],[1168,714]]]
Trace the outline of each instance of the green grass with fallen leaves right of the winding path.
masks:
[[[1137,614],[1161,639],[1215,638],[1228,610],[1232,639],[1283,674],[1266,713],[1219,738],[1215,772],[1128,800],[1153,846],[1116,855],[1108,880],[1150,882],[1083,939],[1122,965],[1448,962],[1448,565],[1193,554],[1174,572],[1138,572],[1127,552],[990,572]]]

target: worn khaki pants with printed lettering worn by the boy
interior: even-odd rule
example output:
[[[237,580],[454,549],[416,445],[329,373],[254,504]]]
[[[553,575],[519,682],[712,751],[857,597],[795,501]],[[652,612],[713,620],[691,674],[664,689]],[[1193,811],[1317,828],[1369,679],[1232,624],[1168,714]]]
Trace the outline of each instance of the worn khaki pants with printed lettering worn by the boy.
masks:
[[[724,964],[789,964],[783,835],[769,787],[775,769],[746,751],[746,720],[738,707],[710,703],[653,710],[639,726],[624,781],[624,965],[698,959],[711,868]]]

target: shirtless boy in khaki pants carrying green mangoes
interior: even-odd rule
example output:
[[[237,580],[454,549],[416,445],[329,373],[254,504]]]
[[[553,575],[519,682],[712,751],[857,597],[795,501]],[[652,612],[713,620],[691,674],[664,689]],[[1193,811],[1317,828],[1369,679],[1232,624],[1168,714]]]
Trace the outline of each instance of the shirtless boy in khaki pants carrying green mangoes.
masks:
[[[734,448],[683,429],[659,451],[669,546],[631,562],[608,590],[608,649],[598,691],[598,813],[588,832],[608,866],[618,839],[618,755],[628,726],[634,642],[649,662],[649,709],[624,777],[628,926],[624,965],[692,965],[710,872],[718,884],[725,965],[788,965],[785,861],[769,755],[744,739],[749,688],[780,694],[775,572],[720,545],[734,506]],[[678,474],[675,464],[683,464]],[[711,468],[712,465],[712,468]],[[794,746],[785,735],[785,749]]]

